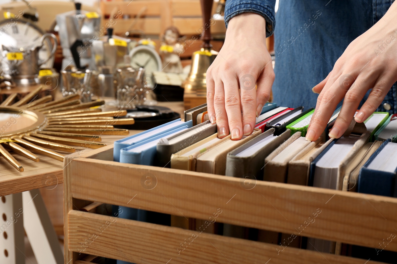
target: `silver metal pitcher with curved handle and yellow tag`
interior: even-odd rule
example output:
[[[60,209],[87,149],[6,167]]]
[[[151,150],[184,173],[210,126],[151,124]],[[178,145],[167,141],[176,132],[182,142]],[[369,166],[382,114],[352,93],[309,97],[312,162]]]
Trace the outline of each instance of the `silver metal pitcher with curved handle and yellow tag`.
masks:
[[[54,46],[50,56],[44,61],[39,59],[39,50],[42,48],[44,39],[52,38]],[[13,80],[16,84],[38,84],[40,66],[46,63],[54,56],[57,46],[57,40],[54,34],[46,33],[41,37],[40,46],[31,49],[20,47],[6,47],[2,45],[1,67],[4,78]]]

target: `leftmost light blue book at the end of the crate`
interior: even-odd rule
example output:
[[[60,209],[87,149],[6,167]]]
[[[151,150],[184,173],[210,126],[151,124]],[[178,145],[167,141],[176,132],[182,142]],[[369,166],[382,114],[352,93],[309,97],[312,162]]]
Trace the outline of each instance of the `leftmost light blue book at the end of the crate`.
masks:
[[[126,148],[133,144],[137,144],[139,142],[145,141],[152,137],[156,137],[158,135],[161,135],[162,133],[172,131],[173,129],[176,129],[178,127],[183,127],[185,125],[187,125],[188,127],[192,127],[193,121],[189,120],[187,122],[183,122],[183,121],[181,121],[180,118],[178,118],[176,120],[165,123],[163,125],[159,125],[157,127],[153,127],[152,129],[143,131],[141,133],[126,137],[124,139],[119,139],[118,141],[114,142],[113,160],[120,161],[120,150],[122,148]]]

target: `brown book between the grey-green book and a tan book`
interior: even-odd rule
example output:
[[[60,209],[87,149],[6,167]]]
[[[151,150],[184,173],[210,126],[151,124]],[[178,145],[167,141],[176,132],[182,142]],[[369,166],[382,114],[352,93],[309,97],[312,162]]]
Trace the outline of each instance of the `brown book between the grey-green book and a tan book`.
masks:
[[[310,144],[310,141],[301,137],[301,132],[293,134],[265,158],[263,180],[285,182],[287,179],[288,162],[308,144]]]

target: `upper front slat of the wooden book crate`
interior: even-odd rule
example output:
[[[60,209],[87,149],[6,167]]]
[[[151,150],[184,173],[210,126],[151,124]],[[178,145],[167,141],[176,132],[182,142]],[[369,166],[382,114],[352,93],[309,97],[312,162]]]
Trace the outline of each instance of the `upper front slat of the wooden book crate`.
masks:
[[[218,222],[366,247],[396,232],[395,198],[265,181],[246,190],[238,178],[87,158],[68,167],[78,199],[199,219],[220,208]],[[157,179],[151,190],[146,176]],[[387,250],[397,251],[397,240]]]

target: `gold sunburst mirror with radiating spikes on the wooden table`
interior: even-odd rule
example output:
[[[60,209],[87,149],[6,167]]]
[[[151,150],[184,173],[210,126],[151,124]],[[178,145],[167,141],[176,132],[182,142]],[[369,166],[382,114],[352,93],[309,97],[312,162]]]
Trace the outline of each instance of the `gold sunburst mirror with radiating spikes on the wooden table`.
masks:
[[[97,100],[81,103],[79,95],[69,95],[53,100],[52,95],[36,99],[42,87],[38,87],[15,102],[17,93],[11,94],[0,104],[0,154],[18,171],[23,167],[13,155],[39,162],[37,154],[63,161],[64,155],[56,151],[75,152],[73,146],[100,148],[100,135],[128,135],[127,129],[114,125],[129,125],[133,118],[127,111],[102,112],[93,108],[104,104]]]

